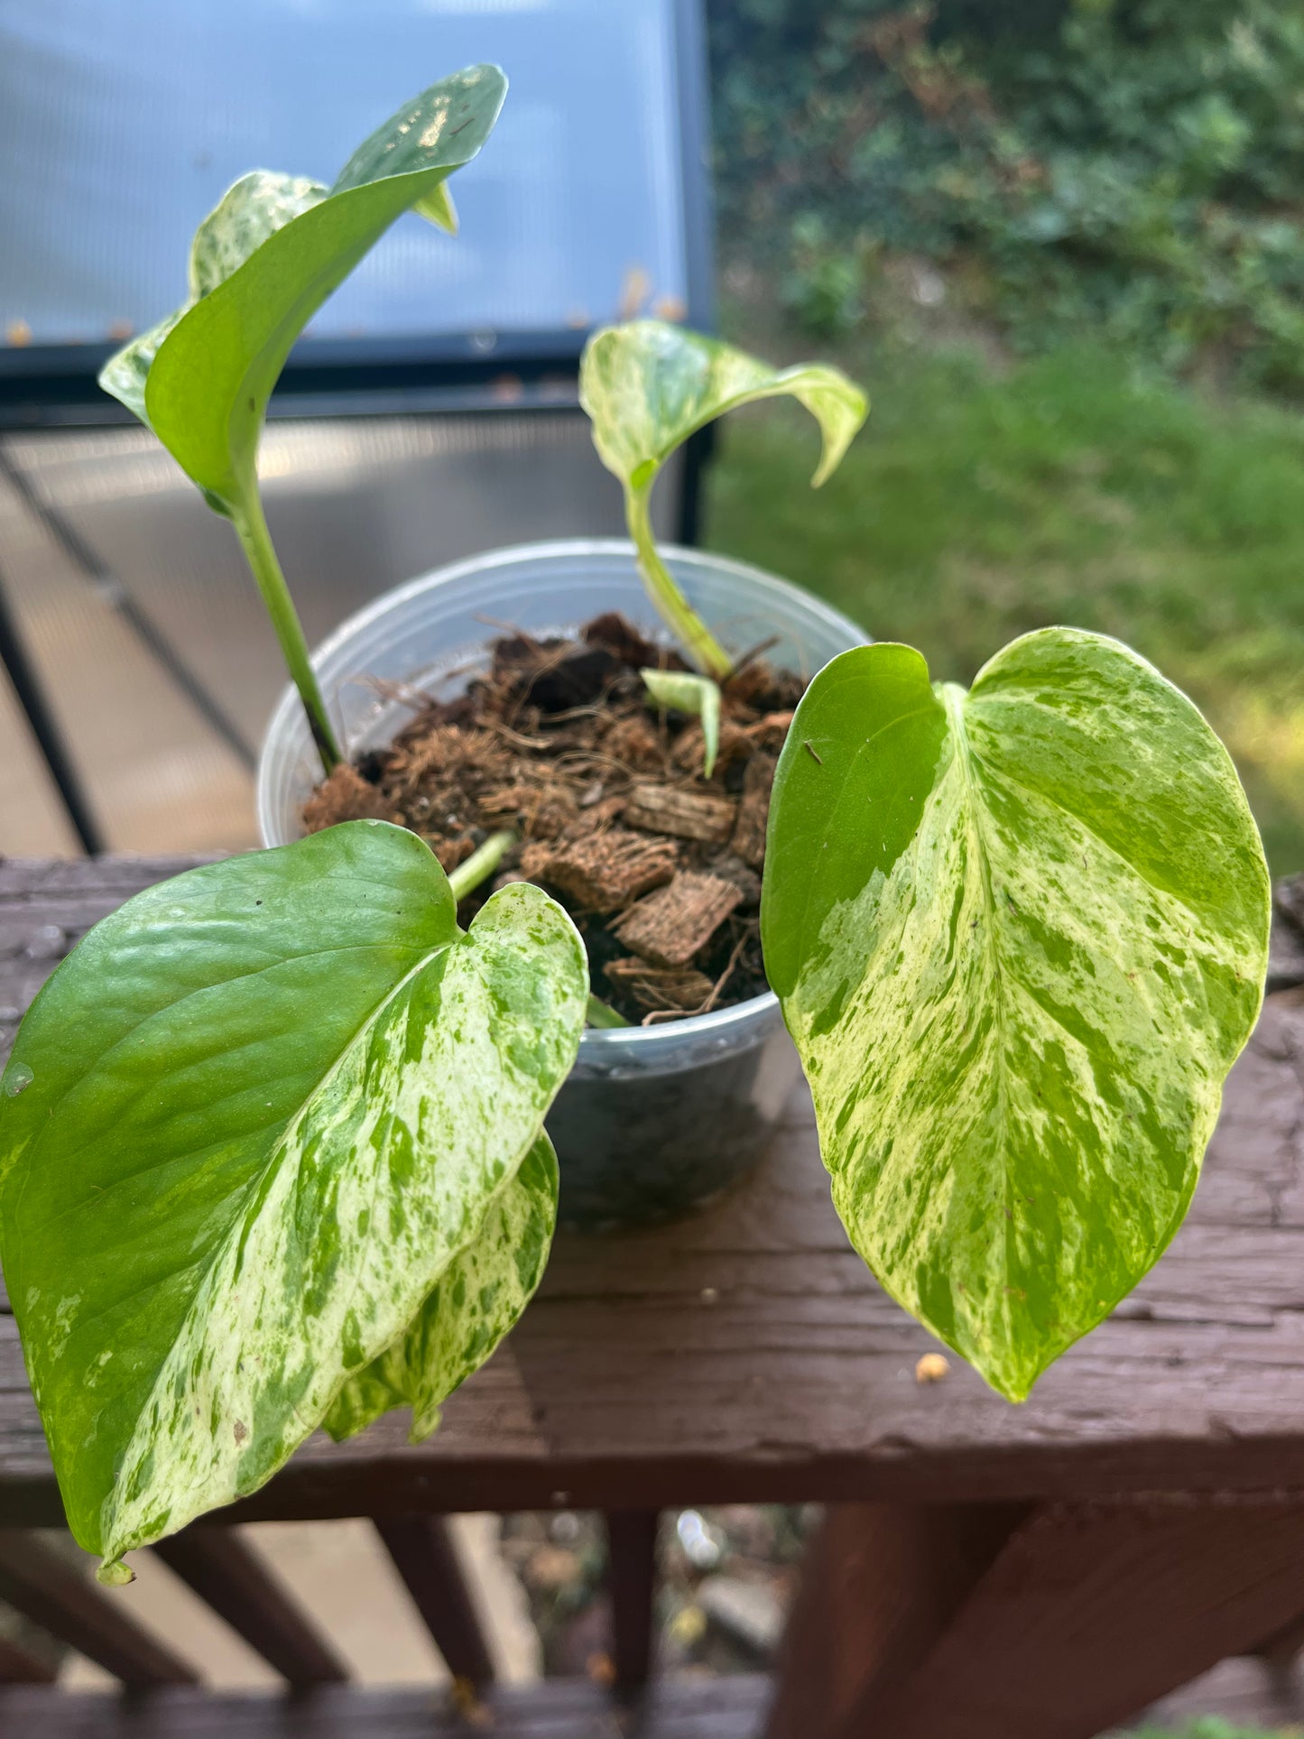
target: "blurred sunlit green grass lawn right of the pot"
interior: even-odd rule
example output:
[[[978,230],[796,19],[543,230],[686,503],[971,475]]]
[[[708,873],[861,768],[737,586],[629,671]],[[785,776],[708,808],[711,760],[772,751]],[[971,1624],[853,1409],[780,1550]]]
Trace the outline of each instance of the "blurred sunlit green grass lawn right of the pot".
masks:
[[[1276,875],[1304,870],[1304,417],[1071,353],[847,363],[869,424],[819,494],[803,412],[722,428],[711,548],[784,574],[934,676],[1071,623],[1128,640],[1205,710]]]

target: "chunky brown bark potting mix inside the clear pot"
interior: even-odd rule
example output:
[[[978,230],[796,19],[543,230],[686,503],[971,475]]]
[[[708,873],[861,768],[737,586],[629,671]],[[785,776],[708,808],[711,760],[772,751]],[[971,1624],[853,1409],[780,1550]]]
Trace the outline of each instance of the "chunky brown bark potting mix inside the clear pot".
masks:
[[[508,635],[485,678],[428,701],[388,750],[337,767],[304,809],[412,828],[445,870],[487,835],[520,835],[492,887],[530,880],[579,925],[595,995],[652,1024],[765,989],[760,871],[779,748],[803,683],[760,656],[722,685],[720,755],[702,777],[702,727],[649,706],[642,666],[683,670],[622,617],[581,640]]]

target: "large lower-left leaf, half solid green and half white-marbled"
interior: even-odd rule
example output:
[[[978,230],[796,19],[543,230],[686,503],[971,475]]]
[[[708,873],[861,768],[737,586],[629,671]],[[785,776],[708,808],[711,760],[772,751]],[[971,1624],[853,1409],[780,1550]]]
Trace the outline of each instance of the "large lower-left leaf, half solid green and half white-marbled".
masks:
[[[409,1388],[492,1346],[586,1000],[560,906],[513,883],[462,934],[384,823],[188,871],[80,943],[3,1075],[0,1256],[83,1546],[111,1565],[257,1489],[457,1264],[475,1296]]]

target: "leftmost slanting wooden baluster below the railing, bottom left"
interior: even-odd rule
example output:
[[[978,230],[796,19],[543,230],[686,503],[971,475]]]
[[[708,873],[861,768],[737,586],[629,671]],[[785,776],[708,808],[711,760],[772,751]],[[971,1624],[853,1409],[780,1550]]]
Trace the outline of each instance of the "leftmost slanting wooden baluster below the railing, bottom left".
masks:
[[[0,1600],[123,1685],[193,1685],[195,1673],[113,1598],[21,1529],[0,1529]]]

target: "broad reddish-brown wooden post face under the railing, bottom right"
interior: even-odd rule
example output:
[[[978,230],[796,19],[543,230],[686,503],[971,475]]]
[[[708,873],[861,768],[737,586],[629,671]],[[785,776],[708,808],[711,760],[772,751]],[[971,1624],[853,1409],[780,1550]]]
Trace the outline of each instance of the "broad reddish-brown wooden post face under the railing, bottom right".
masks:
[[[828,1739],[1095,1739],[1301,1612],[1304,1499],[1052,1504]]]

